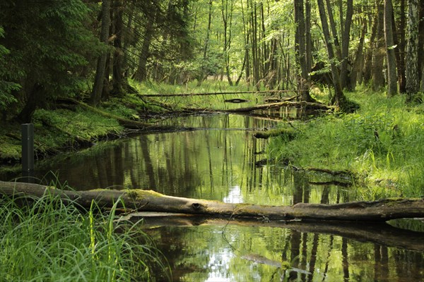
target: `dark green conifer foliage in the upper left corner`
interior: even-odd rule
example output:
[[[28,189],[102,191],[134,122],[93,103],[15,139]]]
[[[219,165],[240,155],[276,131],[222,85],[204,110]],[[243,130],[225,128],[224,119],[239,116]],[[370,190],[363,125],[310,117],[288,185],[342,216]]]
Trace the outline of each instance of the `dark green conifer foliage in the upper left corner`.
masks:
[[[100,51],[98,40],[86,26],[86,4],[81,0],[53,0],[28,5],[6,0],[1,1],[0,9],[0,25],[4,27],[1,42],[9,50],[0,63],[4,70],[0,80],[13,82],[0,85],[9,95],[7,104],[33,100],[33,111],[52,97],[73,96],[86,87],[82,67]],[[13,91],[10,97],[12,90],[19,90],[17,83],[22,89]]]

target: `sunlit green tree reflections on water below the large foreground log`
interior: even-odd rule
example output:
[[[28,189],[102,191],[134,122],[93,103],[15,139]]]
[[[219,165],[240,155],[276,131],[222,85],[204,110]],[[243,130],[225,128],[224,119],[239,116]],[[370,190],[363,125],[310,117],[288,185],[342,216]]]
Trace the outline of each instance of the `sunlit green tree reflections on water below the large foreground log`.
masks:
[[[253,226],[149,233],[175,281],[421,281],[423,255],[337,235]],[[309,273],[309,274],[308,274]]]

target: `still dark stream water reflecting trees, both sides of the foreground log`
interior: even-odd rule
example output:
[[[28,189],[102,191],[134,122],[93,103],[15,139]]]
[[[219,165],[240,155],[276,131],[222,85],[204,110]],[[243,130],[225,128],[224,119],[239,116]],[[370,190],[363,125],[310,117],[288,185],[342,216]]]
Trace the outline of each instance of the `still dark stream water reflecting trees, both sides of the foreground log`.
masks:
[[[45,183],[54,171],[81,190],[153,189],[223,202],[356,200],[354,188],[324,184],[329,179],[321,176],[256,165],[266,158],[266,140],[252,130],[273,128],[274,118],[221,114],[164,123],[205,129],[106,142],[37,164],[37,177]],[[167,257],[174,281],[424,281],[423,233],[386,223],[173,217],[147,218],[141,227]]]

